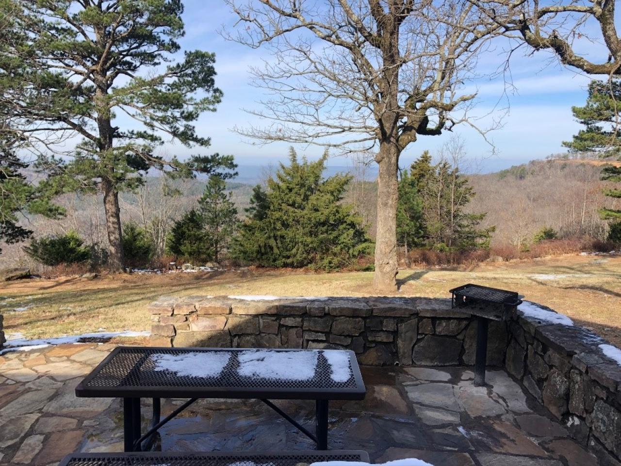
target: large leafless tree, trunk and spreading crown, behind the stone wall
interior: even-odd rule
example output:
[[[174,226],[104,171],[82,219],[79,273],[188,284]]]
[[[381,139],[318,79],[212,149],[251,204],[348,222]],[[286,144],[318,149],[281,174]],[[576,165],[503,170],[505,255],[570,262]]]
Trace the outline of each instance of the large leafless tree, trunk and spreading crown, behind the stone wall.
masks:
[[[273,99],[251,113],[268,123],[237,131],[265,142],[376,150],[375,285],[394,289],[399,155],[419,135],[476,127],[468,117],[476,94],[460,90],[502,26],[457,0],[226,1],[240,19],[228,37],[274,56],[253,70]]]

